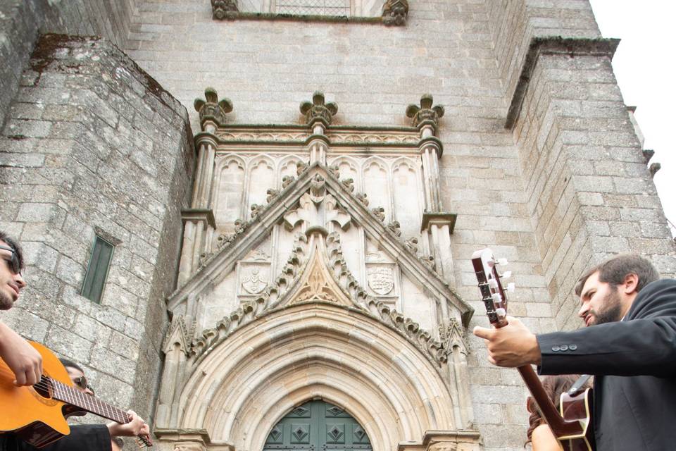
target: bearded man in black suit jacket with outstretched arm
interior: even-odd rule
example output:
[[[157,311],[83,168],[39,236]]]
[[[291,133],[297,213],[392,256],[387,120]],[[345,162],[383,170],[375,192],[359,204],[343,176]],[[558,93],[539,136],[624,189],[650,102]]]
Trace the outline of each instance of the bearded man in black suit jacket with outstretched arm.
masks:
[[[534,335],[517,319],[476,327],[489,361],[540,374],[593,374],[596,450],[676,448],[676,280],[620,255],[577,283],[587,328]]]

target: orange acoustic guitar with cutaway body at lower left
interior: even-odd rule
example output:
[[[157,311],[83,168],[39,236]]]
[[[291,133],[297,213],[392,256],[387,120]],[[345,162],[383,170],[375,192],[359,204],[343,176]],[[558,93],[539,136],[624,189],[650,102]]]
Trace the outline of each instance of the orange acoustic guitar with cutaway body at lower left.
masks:
[[[70,433],[65,418],[92,413],[120,424],[129,422],[127,412],[77,390],[58,358],[46,347],[30,342],[42,355],[43,375],[31,387],[16,387],[14,373],[0,359],[0,433],[13,432],[30,445],[44,447]],[[139,436],[141,447],[152,446]]]

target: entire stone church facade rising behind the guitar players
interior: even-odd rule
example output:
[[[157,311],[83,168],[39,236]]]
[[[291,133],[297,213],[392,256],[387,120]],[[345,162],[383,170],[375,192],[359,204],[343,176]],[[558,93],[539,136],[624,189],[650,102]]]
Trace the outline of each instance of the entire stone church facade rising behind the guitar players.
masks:
[[[1,320],[160,450],[520,450],[472,252],[536,332],[612,254],[676,273],[618,42],[584,0],[322,3],[5,2]]]

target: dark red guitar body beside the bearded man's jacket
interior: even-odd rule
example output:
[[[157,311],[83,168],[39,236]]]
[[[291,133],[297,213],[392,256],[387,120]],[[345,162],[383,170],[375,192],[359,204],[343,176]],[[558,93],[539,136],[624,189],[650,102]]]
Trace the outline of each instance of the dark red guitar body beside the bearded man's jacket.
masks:
[[[570,437],[558,437],[565,451],[594,451],[594,427],[592,425],[592,393],[587,388],[576,395],[561,394],[561,416],[565,421],[578,421],[582,426],[582,433]]]

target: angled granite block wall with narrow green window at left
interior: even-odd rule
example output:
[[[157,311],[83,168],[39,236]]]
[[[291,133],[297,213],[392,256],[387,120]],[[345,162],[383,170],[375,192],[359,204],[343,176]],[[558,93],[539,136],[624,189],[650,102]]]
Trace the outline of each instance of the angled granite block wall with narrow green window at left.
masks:
[[[44,35],[0,160],[0,229],[29,264],[2,321],[149,416],[194,166],[184,107],[105,39]],[[95,234],[117,244],[101,304],[79,294]]]

